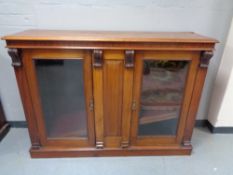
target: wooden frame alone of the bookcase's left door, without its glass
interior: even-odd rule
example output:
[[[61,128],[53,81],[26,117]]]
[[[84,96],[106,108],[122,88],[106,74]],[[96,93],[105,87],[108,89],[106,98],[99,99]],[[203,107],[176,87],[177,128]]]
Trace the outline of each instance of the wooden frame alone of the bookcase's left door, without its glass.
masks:
[[[48,138],[46,134],[45,122],[42,112],[41,99],[39,95],[38,80],[33,60],[84,60],[83,78],[84,78],[84,93],[85,106],[87,115],[87,131],[86,138]],[[40,144],[43,147],[92,147],[95,142],[94,133],[94,112],[89,109],[89,103],[93,100],[92,90],[92,67],[91,67],[91,52],[89,50],[57,50],[57,49],[30,49],[24,50],[23,65],[25,68],[25,76],[28,82],[28,91],[31,96],[32,108],[38,128],[38,136]]]

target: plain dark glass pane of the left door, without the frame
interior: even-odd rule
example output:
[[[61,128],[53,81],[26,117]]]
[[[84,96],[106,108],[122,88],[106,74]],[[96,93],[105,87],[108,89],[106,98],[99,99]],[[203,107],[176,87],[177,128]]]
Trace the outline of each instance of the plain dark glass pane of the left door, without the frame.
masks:
[[[87,137],[83,60],[35,60],[49,138]]]

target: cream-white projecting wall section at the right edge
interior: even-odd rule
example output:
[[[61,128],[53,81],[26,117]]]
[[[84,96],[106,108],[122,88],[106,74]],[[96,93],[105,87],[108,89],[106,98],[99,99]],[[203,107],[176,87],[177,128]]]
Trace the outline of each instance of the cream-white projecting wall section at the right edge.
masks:
[[[216,75],[208,120],[215,127],[233,127],[233,19]]]

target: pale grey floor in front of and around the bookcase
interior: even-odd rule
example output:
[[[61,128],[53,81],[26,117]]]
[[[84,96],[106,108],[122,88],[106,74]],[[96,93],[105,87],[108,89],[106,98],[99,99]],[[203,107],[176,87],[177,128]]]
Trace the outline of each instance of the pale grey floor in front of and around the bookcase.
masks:
[[[195,129],[191,156],[31,159],[27,129],[10,130],[0,143],[1,175],[233,175],[233,134]]]

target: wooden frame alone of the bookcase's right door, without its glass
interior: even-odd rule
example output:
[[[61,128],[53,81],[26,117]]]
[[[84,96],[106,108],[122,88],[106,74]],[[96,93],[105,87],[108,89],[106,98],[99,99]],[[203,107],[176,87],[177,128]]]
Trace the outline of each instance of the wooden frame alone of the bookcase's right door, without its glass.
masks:
[[[191,96],[194,88],[195,77],[199,68],[200,52],[185,51],[143,51],[137,52],[134,70],[134,90],[133,100],[136,101],[136,109],[132,114],[131,122],[131,146],[160,146],[160,145],[180,145],[183,139],[185,122],[188,115]],[[138,114],[140,111],[140,94],[142,83],[142,68],[144,60],[186,60],[190,61],[186,76],[186,84],[181,104],[180,118],[175,136],[137,136]]]

